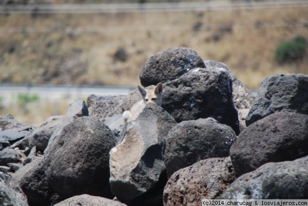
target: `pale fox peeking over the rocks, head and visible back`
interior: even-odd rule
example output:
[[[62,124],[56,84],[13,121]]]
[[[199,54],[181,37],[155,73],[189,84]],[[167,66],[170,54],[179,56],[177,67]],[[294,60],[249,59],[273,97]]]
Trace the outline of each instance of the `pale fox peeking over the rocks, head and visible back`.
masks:
[[[133,104],[130,110],[126,110],[123,113],[123,118],[125,122],[130,122],[141,113],[145,105],[149,102],[155,103],[158,106],[162,105],[163,99],[163,84],[158,83],[155,89],[144,89],[141,86],[137,86],[139,92],[141,93],[142,99],[137,103]]]

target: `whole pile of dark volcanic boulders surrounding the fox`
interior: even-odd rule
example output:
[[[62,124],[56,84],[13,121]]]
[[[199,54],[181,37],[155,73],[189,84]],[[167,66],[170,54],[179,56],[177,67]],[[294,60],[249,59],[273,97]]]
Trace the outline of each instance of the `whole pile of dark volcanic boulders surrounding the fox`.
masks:
[[[151,57],[140,79],[163,83],[163,104],[128,123],[138,90],[76,100],[40,127],[0,117],[0,204],[308,198],[308,76],[268,77],[254,98],[225,64],[180,47]]]

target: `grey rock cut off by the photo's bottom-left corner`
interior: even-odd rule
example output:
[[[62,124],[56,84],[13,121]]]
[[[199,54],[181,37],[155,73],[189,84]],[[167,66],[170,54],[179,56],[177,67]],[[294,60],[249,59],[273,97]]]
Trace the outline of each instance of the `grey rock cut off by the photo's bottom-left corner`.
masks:
[[[28,206],[27,197],[20,185],[10,176],[0,172],[0,205]]]

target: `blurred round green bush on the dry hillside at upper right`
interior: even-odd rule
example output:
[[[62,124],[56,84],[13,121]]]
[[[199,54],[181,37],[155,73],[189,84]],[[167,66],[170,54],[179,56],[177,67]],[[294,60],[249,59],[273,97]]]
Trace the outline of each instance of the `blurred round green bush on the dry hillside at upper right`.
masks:
[[[297,36],[288,42],[283,42],[278,46],[275,52],[275,60],[280,63],[293,63],[304,57],[306,52],[306,39],[303,36]]]

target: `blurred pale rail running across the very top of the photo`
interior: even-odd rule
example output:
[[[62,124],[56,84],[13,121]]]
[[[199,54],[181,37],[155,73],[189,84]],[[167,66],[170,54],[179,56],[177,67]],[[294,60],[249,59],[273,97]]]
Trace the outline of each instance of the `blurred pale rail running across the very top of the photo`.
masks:
[[[0,13],[118,13],[118,12],[175,12],[235,9],[271,9],[307,7],[307,0],[295,1],[229,1],[182,2],[146,4],[61,4],[61,5],[0,5]]]

